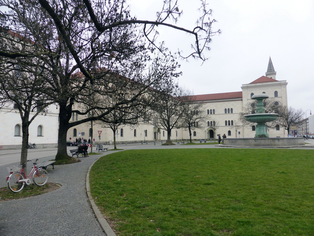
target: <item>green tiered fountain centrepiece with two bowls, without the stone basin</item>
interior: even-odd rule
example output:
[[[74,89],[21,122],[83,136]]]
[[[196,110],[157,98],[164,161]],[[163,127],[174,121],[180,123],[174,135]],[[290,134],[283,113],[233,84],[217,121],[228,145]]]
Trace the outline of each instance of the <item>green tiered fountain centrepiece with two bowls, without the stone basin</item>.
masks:
[[[263,100],[265,98],[268,98],[268,95],[265,93],[253,95],[252,99],[257,100],[256,113],[244,116],[247,121],[257,123],[257,126],[255,128],[255,138],[269,138],[266,122],[274,121],[277,119],[278,114],[265,113],[265,107],[263,104]]]

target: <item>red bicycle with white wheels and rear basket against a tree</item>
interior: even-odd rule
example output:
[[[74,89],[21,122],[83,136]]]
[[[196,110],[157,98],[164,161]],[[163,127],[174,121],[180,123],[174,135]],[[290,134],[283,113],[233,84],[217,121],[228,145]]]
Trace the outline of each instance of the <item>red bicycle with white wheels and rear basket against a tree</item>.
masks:
[[[22,165],[7,167],[10,173],[10,176],[7,177],[8,187],[12,192],[17,193],[21,191],[24,188],[25,183],[27,185],[30,185],[31,177],[33,177],[33,182],[38,186],[42,186],[45,183],[47,183],[48,172],[43,168],[37,169],[36,167],[37,160],[39,159],[36,159],[35,162],[33,162],[34,167],[32,167],[32,170],[30,171],[29,175],[25,175]],[[32,160],[28,160],[28,161],[32,161]]]

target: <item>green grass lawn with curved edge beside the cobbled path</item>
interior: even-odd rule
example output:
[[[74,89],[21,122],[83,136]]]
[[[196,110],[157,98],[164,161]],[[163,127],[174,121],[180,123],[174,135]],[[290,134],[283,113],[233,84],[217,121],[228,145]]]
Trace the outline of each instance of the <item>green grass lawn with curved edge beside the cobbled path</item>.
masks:
[[[90,186],[120,236],[309,236],[313,176],[313,150],[129,150],[101,157]]]

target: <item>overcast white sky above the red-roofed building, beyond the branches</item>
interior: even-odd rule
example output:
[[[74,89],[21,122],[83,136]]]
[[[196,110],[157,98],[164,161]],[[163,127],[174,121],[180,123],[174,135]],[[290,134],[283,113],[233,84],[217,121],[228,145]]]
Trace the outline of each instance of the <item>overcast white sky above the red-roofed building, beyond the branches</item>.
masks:
[[[199,15],[198,0],[179,0],[183,16],[178,25],[192,29]],[[162,0],[128,1],[138,19],[154,19]],[[183,3],[183,4],[181,4]],[[210,0],[217,20],[209,59],[180,61],[179,84],[194,94],[241,91],[267,71],[269,56],[276,80],[286,80],[288,106],[314,112],[314,1],[312,0]],[[159,27],[160,29],[161,27]],[[171,50],[193,42],[185,33],[161,29]],[[307,117],[310,111],[307,111]]]

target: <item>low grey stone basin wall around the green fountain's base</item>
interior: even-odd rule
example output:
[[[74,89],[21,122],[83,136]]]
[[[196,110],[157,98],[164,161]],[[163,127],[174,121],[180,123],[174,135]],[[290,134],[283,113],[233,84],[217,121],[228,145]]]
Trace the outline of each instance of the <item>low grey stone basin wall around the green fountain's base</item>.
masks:
[[[304,146],[304,138],[225,138],[224,145],[248,147]]]

